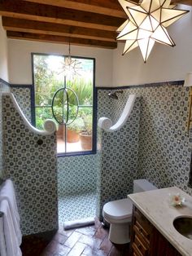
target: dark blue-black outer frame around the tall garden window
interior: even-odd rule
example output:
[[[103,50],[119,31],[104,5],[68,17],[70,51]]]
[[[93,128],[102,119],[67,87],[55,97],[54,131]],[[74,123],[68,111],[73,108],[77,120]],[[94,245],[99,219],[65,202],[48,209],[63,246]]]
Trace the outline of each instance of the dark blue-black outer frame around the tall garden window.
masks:
[[[63,56],[67,57],[68,55],[61,55],[61,54],[50,54],[50,53],[37,53],[37,52],[32,52],[31,53],[31,62],[32,62],[32,97],[31,97],[31,116],[32,116],[32,125],[36,127],[36,114],[35,114],[35,83],[34,83],[34,64],[33,64],[33,56],[34,55],[55,55],[55,56]],[[82,156],[82,155],[92,155],[96,154],[97,152],[97,90],[95,86],[95,58],[90,58],[90,57],[81,57],[81,56],[76,56],[72,55],[72,58],[76,59],[84,59],[84,60],[93,60],[93,124],[92,124],[92,150],[90,151],[82,151],[82,152],[62,152],[62,153],[57,153],[57,157],[74,157],[74,156]]]

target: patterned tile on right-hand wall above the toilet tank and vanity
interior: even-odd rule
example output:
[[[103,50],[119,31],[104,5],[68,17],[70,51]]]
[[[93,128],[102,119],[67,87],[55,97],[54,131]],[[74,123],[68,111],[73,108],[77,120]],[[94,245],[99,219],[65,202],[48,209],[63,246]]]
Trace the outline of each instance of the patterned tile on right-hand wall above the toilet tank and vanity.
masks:
[[[141,94],[138,177],[158,188],[187,187],[192,147],[191,130],[186,131],[189,89],[177,86],[148,87]]]

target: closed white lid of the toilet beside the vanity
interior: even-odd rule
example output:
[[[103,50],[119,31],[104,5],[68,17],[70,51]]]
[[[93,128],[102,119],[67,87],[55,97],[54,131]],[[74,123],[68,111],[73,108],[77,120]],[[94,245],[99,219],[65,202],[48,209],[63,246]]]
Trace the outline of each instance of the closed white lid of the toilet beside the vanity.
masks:
[[[132,217],[133,203],[129,198],[117,201],[110,201],[103,206],[103,213],[109,218],[129,218]]]

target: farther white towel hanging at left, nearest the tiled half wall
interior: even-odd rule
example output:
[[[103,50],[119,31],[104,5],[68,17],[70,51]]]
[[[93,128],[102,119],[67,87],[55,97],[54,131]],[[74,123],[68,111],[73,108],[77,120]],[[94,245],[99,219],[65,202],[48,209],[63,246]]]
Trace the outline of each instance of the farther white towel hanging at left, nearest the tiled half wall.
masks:
[[[21,245],[22,234],[20,231],[20,215],[16,204],[15,189],[11,179],[7,179],[5,183],[2,184],[0,202],[2,200],[7,200],[9,203],[15,234],[17,235],[19,245]]]

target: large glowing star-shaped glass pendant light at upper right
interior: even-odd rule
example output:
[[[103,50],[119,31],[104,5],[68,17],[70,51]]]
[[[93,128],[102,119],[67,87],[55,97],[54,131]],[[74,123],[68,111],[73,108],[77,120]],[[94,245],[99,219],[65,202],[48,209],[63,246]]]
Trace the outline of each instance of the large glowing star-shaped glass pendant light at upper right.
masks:
[[[118,1],[129,18],[117,29],[116,39],[125,40],[123,55],[139,46],[146,62],[155,42],[175,46],[166,28],[188,11],[174,9],[171,0]]]

